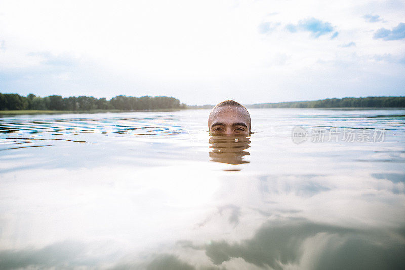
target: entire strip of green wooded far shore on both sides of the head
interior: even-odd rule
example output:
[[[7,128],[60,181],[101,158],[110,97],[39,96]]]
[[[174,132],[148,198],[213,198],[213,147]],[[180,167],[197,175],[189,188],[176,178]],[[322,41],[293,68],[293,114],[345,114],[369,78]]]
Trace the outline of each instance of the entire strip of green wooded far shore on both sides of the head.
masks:
[[[245,105],[247,108],[405,108],[405,96],[399,97],[345,97],[315,101],[292,101]],[[120,112],[134,110],[211,109],[214,105],[190,106],[174,97],[116,96],[110,100],[87,96],[68,97],[53,95],[37,97],[34,94],[0,93],[0,115],[77,112]]]

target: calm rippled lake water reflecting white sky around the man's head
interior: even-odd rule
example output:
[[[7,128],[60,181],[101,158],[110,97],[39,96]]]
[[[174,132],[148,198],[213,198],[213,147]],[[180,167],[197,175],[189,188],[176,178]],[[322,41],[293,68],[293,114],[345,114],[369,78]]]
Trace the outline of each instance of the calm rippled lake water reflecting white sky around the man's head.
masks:
[[[0,117],[0,268],[402,269],[405,110]]]

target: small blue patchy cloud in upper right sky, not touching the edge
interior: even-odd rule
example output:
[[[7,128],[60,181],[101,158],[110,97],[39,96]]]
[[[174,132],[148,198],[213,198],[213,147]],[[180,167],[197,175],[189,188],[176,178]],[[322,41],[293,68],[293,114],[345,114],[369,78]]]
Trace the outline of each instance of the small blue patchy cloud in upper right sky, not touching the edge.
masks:
[[[334,27],[329,22],[324,22],[315,18],[308,18],[304,20],[300,20],[298,24],[288,24],[286,25],[286,29],[292,33],[298,31],[308,31],[312,33],[314,38],[318,38],[321,35],[328,34],[334,30]],[[338,35],[335,32],[332,38]]]

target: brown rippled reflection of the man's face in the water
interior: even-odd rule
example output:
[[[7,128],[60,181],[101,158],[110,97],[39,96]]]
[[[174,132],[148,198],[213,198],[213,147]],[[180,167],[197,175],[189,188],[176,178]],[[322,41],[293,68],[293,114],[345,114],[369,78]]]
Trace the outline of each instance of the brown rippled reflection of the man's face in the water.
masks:
[[[208,140],[210,143],[210,158],[215,162],[227,164],[249,163],[244,157],[249,155],[246,151],[250,146],[249,136],[221,136],[211,135]]]

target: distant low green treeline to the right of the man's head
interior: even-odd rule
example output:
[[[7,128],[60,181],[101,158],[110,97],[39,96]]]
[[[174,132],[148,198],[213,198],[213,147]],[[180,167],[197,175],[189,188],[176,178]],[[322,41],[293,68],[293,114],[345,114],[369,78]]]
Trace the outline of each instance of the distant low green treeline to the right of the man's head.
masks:
[[[246,105],[247,108],[405,108],[405,97],[345,97]]]

